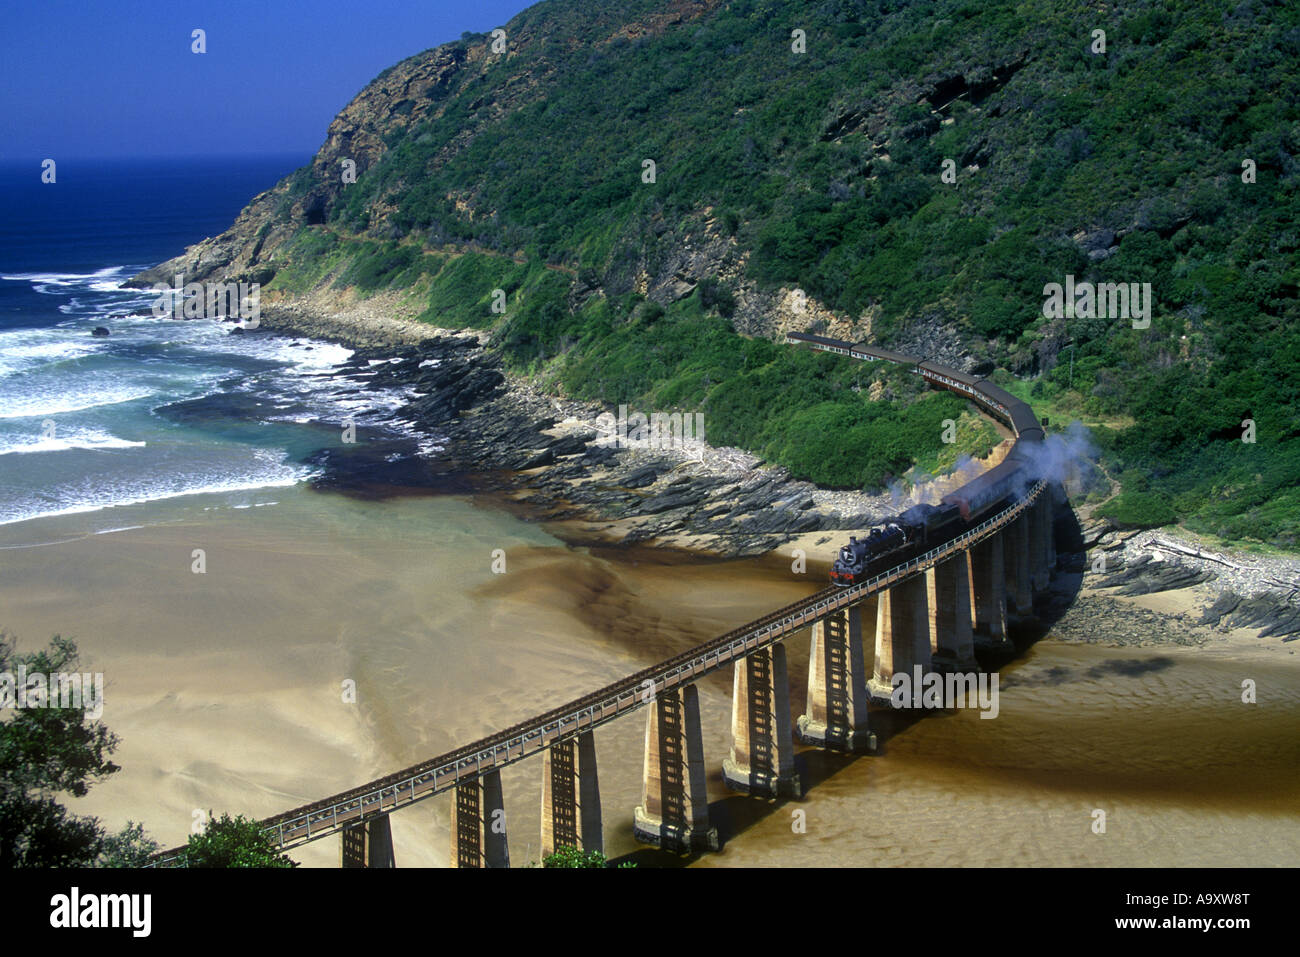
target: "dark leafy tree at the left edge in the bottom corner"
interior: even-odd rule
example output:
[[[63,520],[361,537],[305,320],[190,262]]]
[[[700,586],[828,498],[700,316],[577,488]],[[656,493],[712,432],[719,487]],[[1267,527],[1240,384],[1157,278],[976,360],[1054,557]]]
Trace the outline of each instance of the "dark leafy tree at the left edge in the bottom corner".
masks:
[[[32,685],[25,680],[20,689],[13,675],[25,670],[48,680],[75,672],[75,642],[56,635],[48,649],[25,655],[14,649],[14,640],[0,632],[0,675],[6,679],[0,703],[13,709],[13,716],[0,722],[0,870],[90,866],[109,839],[98,818],[69,814],[56,796],[82,797],[117,772],[109,754],[118,739],[100,722],[86,720],[84,701],[77,707],[17,706],[18,693],[26,698]]]

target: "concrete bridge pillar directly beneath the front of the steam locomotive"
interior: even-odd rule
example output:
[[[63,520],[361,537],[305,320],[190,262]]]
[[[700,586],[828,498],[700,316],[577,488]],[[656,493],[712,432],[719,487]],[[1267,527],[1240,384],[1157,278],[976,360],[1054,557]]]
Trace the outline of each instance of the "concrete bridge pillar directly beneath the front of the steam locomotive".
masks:
[[[871,596],[812,625],[807,711],[794,727],[805,744],[875,750],[876,736],[867,727],[870,661],[864,649],[875,653],[878,605],[878,597]]]

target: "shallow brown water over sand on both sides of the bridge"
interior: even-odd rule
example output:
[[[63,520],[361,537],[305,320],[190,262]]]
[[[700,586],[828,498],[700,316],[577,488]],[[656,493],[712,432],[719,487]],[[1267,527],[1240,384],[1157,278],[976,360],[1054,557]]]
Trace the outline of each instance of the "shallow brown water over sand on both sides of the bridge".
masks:
[[[74,802],[168,845],[195,809],[265,817],[578,697],[816,581],[781,563],[571,549],[452,498],[358,503],[276,490],[140,506],[87,534],[66,516],[0,528],[0,627],[78,638],[105,672],[124,770]],[[152,524],[161,523],[161,524]],[[103,527],[103,523],[99,523]],[[57,542],[34,545],[35,542]],[[207,573],[191,572],[191,550]],[[507,572],[491,572],[503,549]],[[1282,650],[1279,650],[1282,649]],[[788,642],[803,706],[807,636]],[[928,716],[878,757],[803,752],[802,802],[729,796],[731,675],[701,684],[715,865],[1295,865],[1300,663],[1256,648],[1050,640],[1004,668],[1001,713]],[[1240,683],[1258,703],[1240,703]],[[356,681],[358,702],[341,683]],[[885,736],[894,715],[878,716]],[[606,850],[633,853],[645,726],[597,731]],[[541,762],[503,772],[511,858],[538,857]],[[802,810],[806,832],[792,830]],[[1095,809],[1106,832],[1092,832]],[[448,797],[394,815],[399,866],[447,861]],[[307,865],[338,862],[337,839]],[[645,857],[646,863],[664,858]]]

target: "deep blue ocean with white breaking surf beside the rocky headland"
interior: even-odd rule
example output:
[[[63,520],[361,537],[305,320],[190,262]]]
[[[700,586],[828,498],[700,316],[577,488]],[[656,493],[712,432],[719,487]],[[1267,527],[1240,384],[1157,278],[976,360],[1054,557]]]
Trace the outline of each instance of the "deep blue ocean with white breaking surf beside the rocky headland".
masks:
[[[341,423],[400,395],[333,377],[352,354],[160,320],[122,282],[226,229],[306,156],[0,166],[0,525],[196,493],[254,505],[311,478]],[[96,326],[109,335],[96,338]]]

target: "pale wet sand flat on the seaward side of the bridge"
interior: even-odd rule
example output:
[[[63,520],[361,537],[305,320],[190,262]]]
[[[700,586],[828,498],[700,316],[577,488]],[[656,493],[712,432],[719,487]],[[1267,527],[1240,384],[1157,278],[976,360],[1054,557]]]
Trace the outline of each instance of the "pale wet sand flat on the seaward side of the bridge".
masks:
[[[354,787],[810,590],[731,588],[723,564],[614,563],[456,498],[260,498],[277,505],[192,497],[0,529],[0,627],[23,650],[74,637],[83,670],[105,675],[124,770],[73,801],[78,813],[143,820],[170,846],[195,810],[260,818]],[[143,520],[164,524],[83,534]],[[630,820],[636,804],[620,796],[640,788],[642,736],[630,719],[599,741],[611,839],[616,807]],[[540,772],[506,774],[516,862],[537,857]],[[399,863],[446,863],[447,815],[438,797],[395,817]],[[295,857],[337,865],[338,853],[321,841]]]

